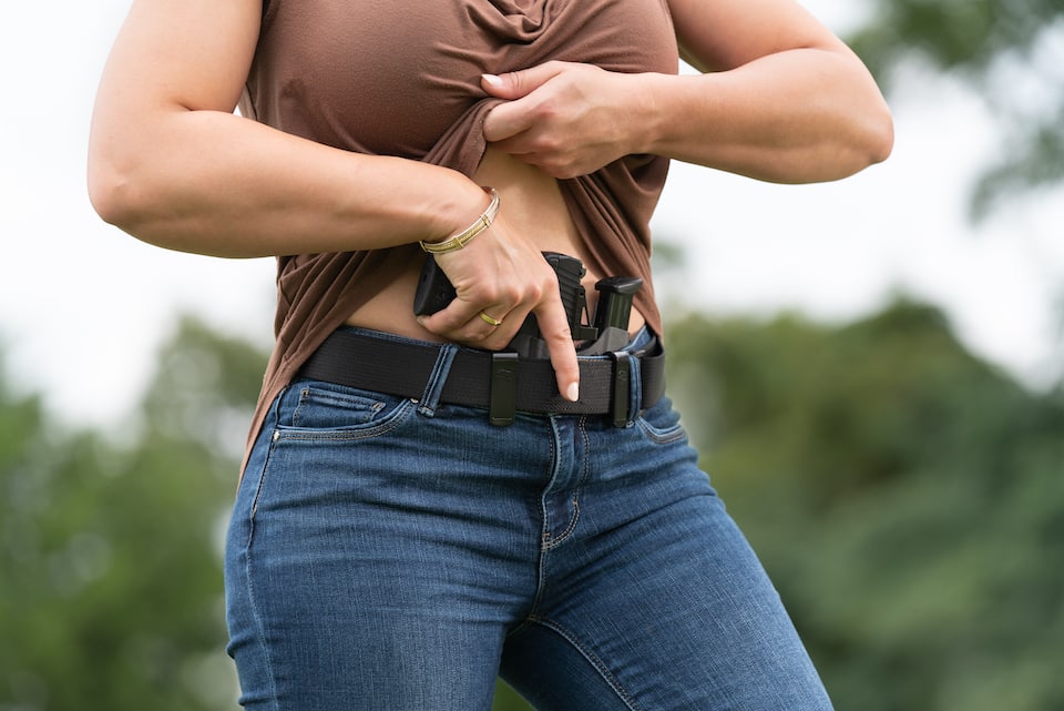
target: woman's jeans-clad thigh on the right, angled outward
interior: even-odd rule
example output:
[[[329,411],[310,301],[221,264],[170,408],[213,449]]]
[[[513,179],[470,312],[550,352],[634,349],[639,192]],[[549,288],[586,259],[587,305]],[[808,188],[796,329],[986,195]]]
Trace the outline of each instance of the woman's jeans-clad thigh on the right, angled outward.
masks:
[[[635,429],[582,435],[579,520],[543,553],[503,677],[542,711],[830,709],[667,402]]]

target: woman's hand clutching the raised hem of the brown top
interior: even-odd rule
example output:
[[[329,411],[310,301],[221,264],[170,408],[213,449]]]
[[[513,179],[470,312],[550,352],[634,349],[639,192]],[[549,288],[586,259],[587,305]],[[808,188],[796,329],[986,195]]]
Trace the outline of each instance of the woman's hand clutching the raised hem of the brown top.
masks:
[[[552,177],[593,173],[640,152],[632,115],[638,77],[562,61],[485,74],[484,91],[510,101],[488,114],[484,139]]]

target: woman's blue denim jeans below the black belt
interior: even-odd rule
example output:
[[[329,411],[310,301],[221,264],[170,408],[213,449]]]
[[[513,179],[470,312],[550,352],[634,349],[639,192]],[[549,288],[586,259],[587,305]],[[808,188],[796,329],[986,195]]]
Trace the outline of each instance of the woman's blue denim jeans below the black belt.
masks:
[[[488,711],[501,674],[544,711],[831,708],[667,399],[493,427],[447,363],[274,403],[226,550],[242,704]]]

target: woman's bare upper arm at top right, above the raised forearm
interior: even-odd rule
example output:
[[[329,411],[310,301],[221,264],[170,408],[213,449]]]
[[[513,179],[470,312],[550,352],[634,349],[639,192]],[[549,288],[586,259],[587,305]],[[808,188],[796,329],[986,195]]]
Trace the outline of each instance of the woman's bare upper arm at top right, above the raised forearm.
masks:
[[[791,49],[848,52],[794,0],[668,0],[684,60],[725,71]]]

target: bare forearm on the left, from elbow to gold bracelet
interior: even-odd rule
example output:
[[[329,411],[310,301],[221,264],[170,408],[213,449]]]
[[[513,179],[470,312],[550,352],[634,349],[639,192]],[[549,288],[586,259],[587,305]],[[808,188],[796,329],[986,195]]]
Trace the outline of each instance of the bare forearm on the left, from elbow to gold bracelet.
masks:
[[[443,238],[483,210],[456,171],[340,151],[217,111],[160,110],[90,148],[108,222],[163,247],[231,257],[341,252]]]

